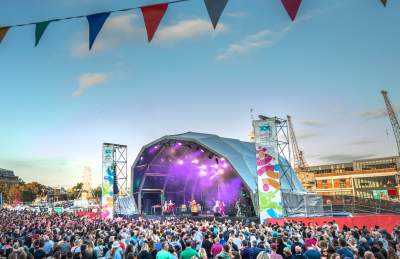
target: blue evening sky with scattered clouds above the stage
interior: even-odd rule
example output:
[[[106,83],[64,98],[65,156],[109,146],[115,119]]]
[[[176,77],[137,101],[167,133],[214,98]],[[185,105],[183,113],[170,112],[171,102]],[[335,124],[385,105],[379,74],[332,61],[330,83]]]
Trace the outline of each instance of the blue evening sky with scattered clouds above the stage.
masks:
[[[0,25],[159,3],[2,0]],[[138,10],[113,13],[88,51],[86,19],[0,44],[0,168],[71,186],[101,181],[103,142],[140,148],[187,131],[248,139],[251,113],[292,116],[311,165],[396,155],[381,89],[400,107],[400,1],[230,0],[214,31],[202,0],[170,5],[149,44]],[[397,111],[399,111],[397,109]]]

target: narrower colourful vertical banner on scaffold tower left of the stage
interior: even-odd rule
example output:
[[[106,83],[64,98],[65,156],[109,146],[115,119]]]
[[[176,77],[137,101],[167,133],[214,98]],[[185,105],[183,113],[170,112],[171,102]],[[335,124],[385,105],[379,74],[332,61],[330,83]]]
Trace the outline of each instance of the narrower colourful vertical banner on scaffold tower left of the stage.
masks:
[[[101,217],[112,219],[114,216],[114,147],[103,144],[103,182],[101,186]]]

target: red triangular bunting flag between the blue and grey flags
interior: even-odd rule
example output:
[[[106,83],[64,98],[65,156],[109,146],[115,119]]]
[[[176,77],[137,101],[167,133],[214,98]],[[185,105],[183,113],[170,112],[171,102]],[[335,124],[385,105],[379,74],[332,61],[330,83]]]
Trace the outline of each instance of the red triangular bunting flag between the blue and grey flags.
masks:
[[[160,25],[161,19],[167,11],[168,4],[157,4],[143,6],[142,9],[144,25],[146,26],[147,39],[150,42],[153,39],[154,33],[156,33],[158,25]]]

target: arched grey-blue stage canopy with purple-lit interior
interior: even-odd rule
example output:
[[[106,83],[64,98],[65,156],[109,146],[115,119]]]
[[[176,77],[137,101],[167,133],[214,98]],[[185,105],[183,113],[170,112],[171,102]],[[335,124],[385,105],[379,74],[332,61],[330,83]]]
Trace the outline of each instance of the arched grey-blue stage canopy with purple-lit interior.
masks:
[[[310,195],[288,161],[280,157],[280,162],[289,167],[280,174],[286,214],[302,215],[305,197]],[[193,168],[198,169],[192,172]],[[251,199],[254,212],[258,214],[256,154],[255,144],[251,142],[195,132],[164,136],[141,149],[132,165],[131,174],[132,193],[139,210],[145,199],[144,193],[161,190],[167,194],[182,192],[182,202],[186,202],[193,195],[200,195],[199,191],[202,190],[201,197],[207,197],[208,194],[214,199],[233,203],[237,196],[242,195],[243,189]],[[222,180],[214,181],[220,178]],[[213,181],[218,184],[211,183]],[[185,193],[192,197],[186,199]],[[205,199],[210,200],[209,196]],[[153,194],[147,200],[156,197]]]

